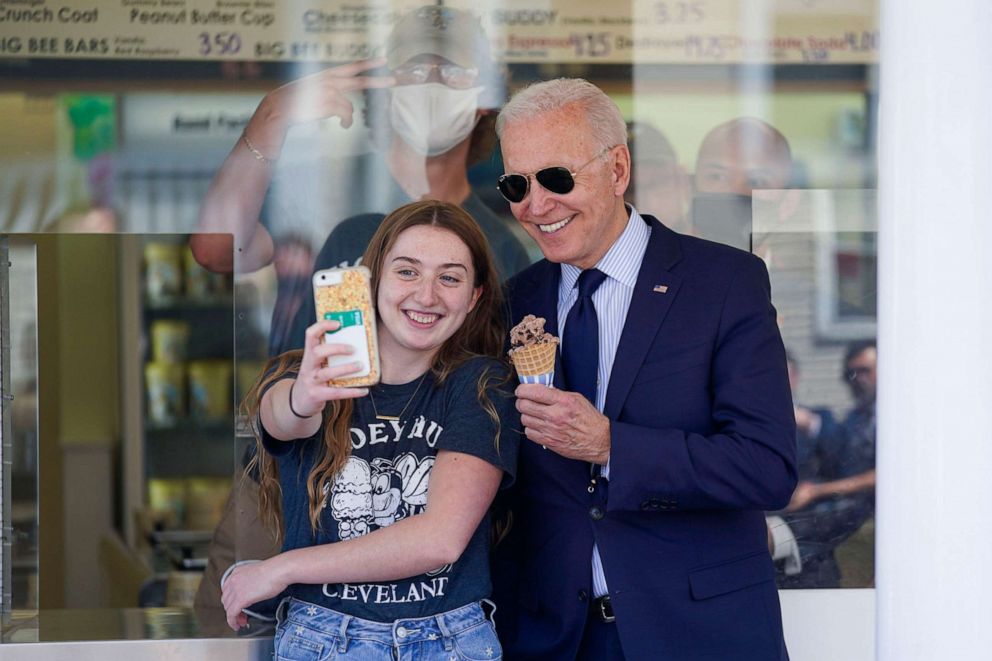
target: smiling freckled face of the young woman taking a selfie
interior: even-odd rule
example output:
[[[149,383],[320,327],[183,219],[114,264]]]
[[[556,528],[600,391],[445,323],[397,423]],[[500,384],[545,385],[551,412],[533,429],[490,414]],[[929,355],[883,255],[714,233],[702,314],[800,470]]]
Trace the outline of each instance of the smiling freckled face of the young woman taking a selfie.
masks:
[[[481,287],[468,246],[454,233],[416,225],[397,237],[379,282],[379,352],[384,361],[430,363],[461,328]]]

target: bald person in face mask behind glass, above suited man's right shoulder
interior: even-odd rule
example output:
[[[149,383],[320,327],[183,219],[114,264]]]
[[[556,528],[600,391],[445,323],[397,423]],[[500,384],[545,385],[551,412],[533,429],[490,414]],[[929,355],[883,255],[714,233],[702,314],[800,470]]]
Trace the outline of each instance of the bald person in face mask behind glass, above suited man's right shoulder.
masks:
[[[696,156],[693,233],[750,250],[752,192],[786,188],[792,171],[789,142],[771,124],[738,117],[712,129]]]

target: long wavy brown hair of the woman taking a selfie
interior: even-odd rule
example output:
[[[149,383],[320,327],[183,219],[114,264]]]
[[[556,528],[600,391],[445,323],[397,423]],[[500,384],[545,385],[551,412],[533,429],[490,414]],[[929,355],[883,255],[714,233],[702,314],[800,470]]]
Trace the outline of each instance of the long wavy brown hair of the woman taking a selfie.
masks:
[[[378,302],[379,282],[382,279],[383,263],[387,253],[400,234],[418,225],[439,227],[457,236],[468,248],[472,257],[472,267],[475,271],[473,286],[482,288],[475,307],[468,313],[458,330],[444,342],[431,363],[434,379],[437,384],[441,384],[453,371],[475,356],[501,355],[505,336],[503,294],[489,242],[478,223],[456,205],[437,200],[421,200],[399,207],[386,216],[365,249],[362,263],[372,273],[373,301]],[[262,520],[280,533],[282,493],[279,487],[279,474],[275,460],[262,447],[258,411],[261,406],[261,394],[265,392],[266,387],[287,374],[295,373],[299,369],[302,356],[302,350],[295,350],[270,359],[263,377],[252,386],[242,403],[242,411],[252,423],[257,446],[255,457],[246,468],[245,474],[247,476],[258,471],[259,510]],[[497,449],[499,417],[487,392],[501,380],[499,375],[486,370],[477,383],[479,403],[496,424]],[[324,407],[323,443],[306,479],[310,524],[314,531],[320,527],[324,490],[351,455],[350,428],[353,412],[354,402],[350,399],[331,401]]]

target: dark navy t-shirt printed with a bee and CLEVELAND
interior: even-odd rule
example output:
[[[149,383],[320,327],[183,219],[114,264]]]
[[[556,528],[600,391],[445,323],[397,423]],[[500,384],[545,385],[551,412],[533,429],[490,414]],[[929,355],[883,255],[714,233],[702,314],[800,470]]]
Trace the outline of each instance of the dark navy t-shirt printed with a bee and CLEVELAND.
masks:
[[[477,398],[477,383],[488,373],[497,425]],[[489,358],[475,358],[438,386],[430,372],[402,384],[380,384],[369,397],[355,400],[352,453],[325,493],[321,529],[312,532],[306,476],[313,467],[316,437],[282,442],[263,434],[275,455],[282,487],[283,550],[338,543],[416,516],[427,506],[427,487],[439,450],[480,457],[505,472],[512,482],[520,439],[508,369]],[[496,386],[495,384],[503,385]],[[418,388],[419,386],[419,388]],[[412,397],[412,399],[411,399]],[[409,402],[409,404],[408,404]],[[380,420],[398,415],[398,421]],[[264,430],[263,430],[264,432]],[[309,603],[379,622],[427,617],[489,596],[489,515],[483,517],[457,562],[412,578],[378,583],[291,585],[288,593]],[[429,544],[430,540],[424,540]]]

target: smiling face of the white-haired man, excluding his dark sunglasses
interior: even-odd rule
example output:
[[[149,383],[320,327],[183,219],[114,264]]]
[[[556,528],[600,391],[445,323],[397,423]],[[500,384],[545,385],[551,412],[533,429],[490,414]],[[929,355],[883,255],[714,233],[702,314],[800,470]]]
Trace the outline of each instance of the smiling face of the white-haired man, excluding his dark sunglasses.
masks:
[[[506,171],[530,175],[527,197],[511,203],[510,210],[544,256],[583,269],[595,266],[627,224],[627,148],[614,147],[596,157],[602,145],[577,108],[507,124],[500,144]],[[552,193],[533,177],[555,166],[576,172],[570,192]]]

